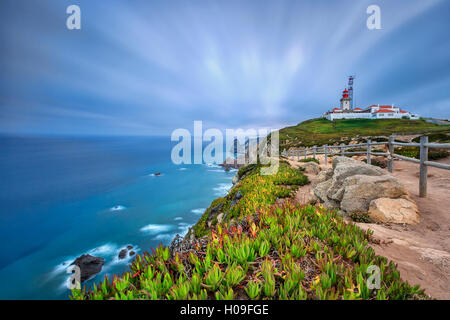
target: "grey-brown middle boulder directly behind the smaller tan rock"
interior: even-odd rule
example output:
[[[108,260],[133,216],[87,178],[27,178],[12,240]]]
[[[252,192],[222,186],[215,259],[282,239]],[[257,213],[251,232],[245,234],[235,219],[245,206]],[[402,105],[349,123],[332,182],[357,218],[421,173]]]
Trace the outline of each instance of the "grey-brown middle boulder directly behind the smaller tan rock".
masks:
[[[406,188],[389,175],[348,177],[342,184],[341,209],[346,212],[367,212],[370,202],[378,198],[396,199],[407,196]],[[328,192],[329,196],[330,192]]]

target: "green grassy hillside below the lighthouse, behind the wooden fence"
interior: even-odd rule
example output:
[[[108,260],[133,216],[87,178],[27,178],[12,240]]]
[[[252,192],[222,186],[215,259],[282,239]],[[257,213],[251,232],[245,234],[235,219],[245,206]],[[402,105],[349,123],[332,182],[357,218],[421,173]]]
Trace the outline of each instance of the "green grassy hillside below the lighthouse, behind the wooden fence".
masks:
[[[352,137],[389,136],[391,134],[450,133],[450,125],[426,120],[316,118],[280,130],[280,149],[344,142]]]

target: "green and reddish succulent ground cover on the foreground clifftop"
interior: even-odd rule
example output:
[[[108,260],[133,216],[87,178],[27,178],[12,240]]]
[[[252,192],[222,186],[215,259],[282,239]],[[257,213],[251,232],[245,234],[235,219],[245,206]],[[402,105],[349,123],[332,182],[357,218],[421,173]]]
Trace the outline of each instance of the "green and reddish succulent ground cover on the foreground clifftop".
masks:
[[[72,299],[423,299],[418,286],[400,279],[396,265],[376,256],[371,233],[344,223],[335,211],[276,205],[280,188],[307,183],[296,169],[282,164],[278,174],[262,176],[258,166],[233,191],[211,207],[231,215],[204,228],[190,248],[159,246],[137,255],[130,270],[73,290]],[[231,206],[237,191],[242,198]],[[206,218],[202,219],[206,220]],[[200,222],[199,222],[200,223]],[[379,290],[368,288],[367,269],[381,272]]]

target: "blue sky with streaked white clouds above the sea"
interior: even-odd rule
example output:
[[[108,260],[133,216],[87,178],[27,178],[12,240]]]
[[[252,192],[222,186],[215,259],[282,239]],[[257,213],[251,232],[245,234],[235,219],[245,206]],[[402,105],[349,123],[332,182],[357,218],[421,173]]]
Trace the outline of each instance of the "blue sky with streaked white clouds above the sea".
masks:
[[[2,0],[0,133],[281,128],[339,106],[351,74],[356,106],[449,119],[449,18],[446,0]]]

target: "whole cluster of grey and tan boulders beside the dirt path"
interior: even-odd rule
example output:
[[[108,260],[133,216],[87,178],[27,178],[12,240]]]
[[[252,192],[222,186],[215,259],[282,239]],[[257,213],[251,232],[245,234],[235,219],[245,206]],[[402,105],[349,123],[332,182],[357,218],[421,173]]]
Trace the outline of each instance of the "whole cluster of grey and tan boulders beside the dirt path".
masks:
[[[326,207],[347,214],[368,213],[376,222],[417,223],[420,218],[416,204],[395,177],[348,157],[334,158],[332,168],[317,176],[314,194]]]

